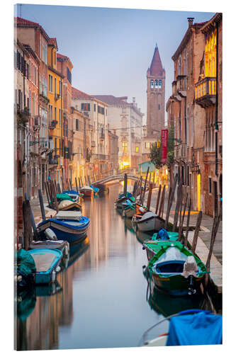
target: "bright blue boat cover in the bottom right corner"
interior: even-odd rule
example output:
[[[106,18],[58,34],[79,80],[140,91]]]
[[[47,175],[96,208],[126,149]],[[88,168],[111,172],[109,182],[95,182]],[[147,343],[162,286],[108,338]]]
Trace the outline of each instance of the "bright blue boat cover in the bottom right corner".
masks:
[[[169,321],[167,346],[222,344],[222,316],[199,312]]]

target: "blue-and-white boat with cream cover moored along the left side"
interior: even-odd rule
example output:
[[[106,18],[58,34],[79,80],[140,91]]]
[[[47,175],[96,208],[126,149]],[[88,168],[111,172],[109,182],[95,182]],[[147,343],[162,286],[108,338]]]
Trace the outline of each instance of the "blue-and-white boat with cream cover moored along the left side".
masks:
[[[40,239],[46,239],[47,229],[55,233],[58,240],[77,242],[86,238],[89,228],[89,218],[82,216],[81,212],[60,211],[55,218],[45,219],[38,224]]]

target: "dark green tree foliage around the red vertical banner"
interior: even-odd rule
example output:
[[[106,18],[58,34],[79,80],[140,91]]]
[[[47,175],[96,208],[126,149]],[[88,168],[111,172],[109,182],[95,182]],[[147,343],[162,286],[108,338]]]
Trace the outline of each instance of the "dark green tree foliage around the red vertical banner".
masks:
[[[157,147],[156,144],[152,144],[150,149],[150,160],[156,169],[160,169],[163,165],[166,165],[170,171],[171,166],[174,164],[174,126],[172,125],[168,130],[167,140],[167,163],[163,164],[162,160],[162,143]]]

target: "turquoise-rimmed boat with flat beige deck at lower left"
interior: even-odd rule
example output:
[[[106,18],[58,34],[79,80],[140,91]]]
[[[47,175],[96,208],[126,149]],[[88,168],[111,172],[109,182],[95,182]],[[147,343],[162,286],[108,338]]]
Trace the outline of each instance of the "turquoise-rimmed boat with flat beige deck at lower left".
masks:
[[[30,249],[27,251],[35,261],[35,284],[55,282],[60,271],[63,253],[60,249]]]

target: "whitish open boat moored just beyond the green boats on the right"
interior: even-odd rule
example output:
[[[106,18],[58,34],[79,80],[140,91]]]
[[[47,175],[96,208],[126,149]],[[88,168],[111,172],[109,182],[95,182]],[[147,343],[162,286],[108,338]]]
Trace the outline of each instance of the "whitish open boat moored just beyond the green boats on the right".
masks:
[[[158,231],[164,228],[164,219],[150,211],[145,212],[144,215],[136,215],[134,222],[141,232]]]

